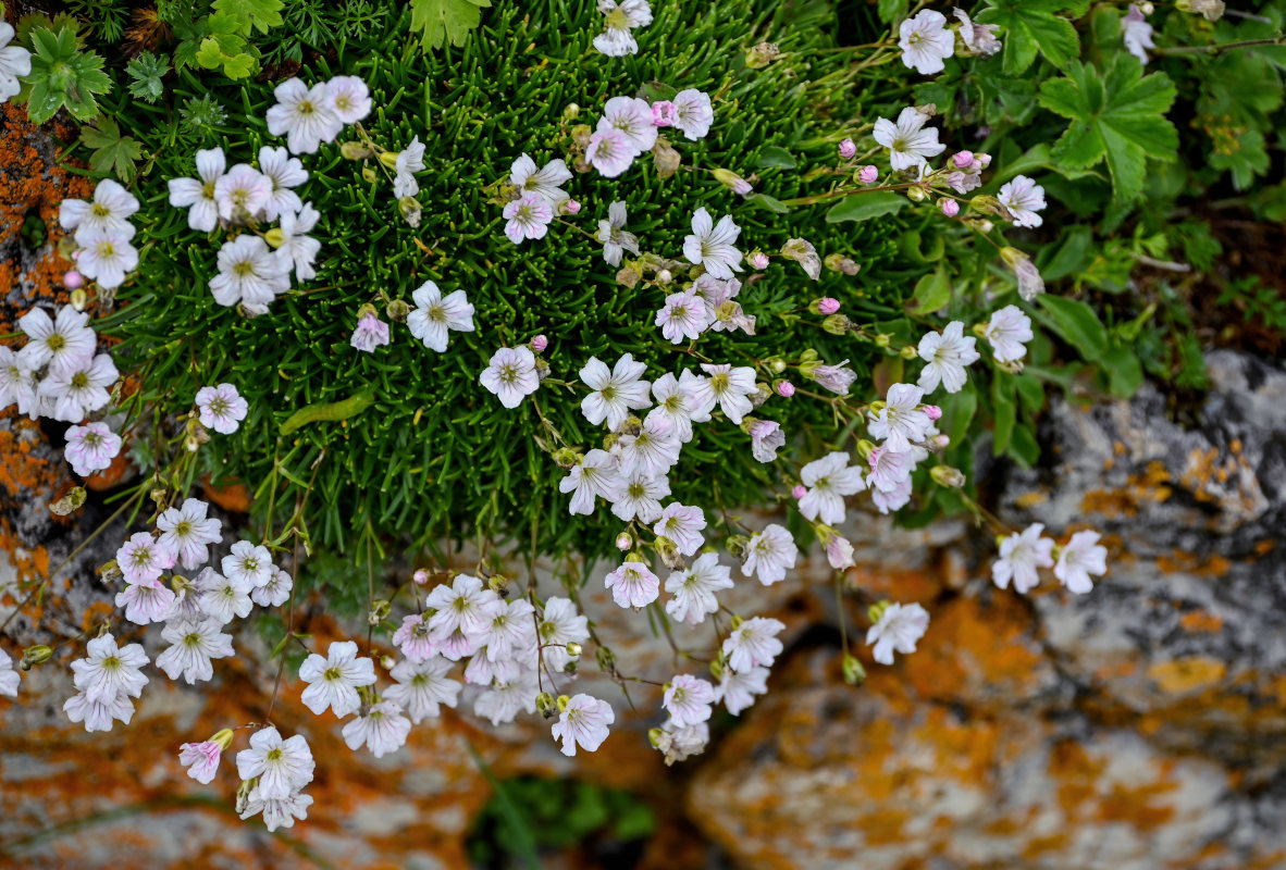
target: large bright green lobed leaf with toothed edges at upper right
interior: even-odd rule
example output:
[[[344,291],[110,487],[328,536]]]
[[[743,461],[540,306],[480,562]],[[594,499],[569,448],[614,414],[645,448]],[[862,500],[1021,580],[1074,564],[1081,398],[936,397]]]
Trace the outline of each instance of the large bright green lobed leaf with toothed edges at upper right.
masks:
[[[1073,62],[1066,77],[1040,86],[1040,105],[1071,120],[1053,148],[1055,161],[1071,168],[1106,161],[1116,199],[1133,200],[1143,190],[1147,158],[1175,157],[1179,135],[1165,118],[1174,96],[1164,72],[1143,76],[1128,54],[1118,54],[1106,75]]]

